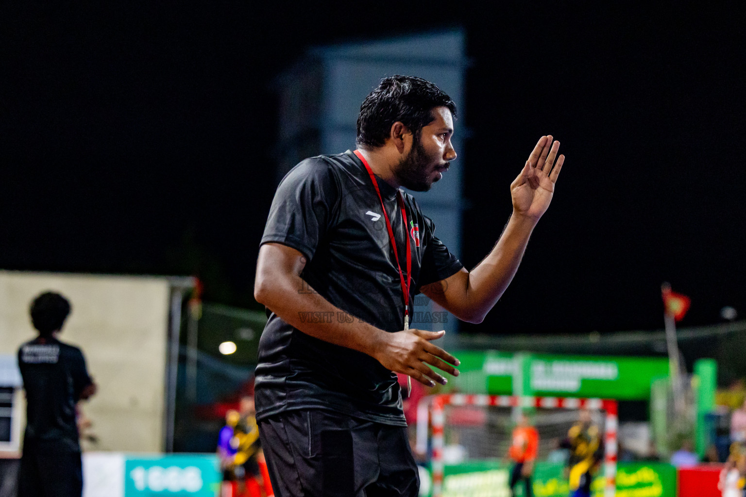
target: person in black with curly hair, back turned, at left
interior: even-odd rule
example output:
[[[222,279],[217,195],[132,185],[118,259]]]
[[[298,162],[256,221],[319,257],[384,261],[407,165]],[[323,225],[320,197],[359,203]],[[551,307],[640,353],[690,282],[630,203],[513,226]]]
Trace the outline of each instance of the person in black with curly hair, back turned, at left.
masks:
[[[18,350],[26,391],[26,431],[19,469],[19,497],[80,497],[81,446],[76,404],[95,393],[83,352],[57,340],[70,312],[65,297],[46,292],[31,304],[39,332]]]

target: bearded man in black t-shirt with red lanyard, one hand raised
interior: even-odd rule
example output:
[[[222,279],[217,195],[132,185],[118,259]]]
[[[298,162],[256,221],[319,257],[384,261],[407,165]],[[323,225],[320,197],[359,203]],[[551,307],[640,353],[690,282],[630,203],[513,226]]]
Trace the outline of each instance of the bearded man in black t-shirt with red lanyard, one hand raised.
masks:
[[[456,106],[433,83],[392,76],[360,107],[357,151],[306,159],[280,182],[257,261],[269,311],[255,400],[277,496],[416,496],[396,373],[445,384],[459,361],[409,329],[423,293],[479,323],[513,279],[564,156],[542,136],[510,186],[513,215],[471,271],[410,194],[456,159]],[[555,159],[557,162],[555,163]]]

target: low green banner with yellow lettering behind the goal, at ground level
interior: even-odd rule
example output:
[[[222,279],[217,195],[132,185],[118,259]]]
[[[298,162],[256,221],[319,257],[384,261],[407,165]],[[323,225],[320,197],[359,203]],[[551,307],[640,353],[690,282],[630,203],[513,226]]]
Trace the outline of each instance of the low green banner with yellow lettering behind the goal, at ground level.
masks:
[[[511,497],[510,466],[497,460],[479,460],[445,466],[443,497]],[[569,488],[561,463],[536,463],[535,497],[567,497]],[[594,497],[604,496],[604,478],[593,482]],[[523,496],[523,485],[515,487]],[[616,497],[675,497],[676,469],[667,463],[618,463]]]

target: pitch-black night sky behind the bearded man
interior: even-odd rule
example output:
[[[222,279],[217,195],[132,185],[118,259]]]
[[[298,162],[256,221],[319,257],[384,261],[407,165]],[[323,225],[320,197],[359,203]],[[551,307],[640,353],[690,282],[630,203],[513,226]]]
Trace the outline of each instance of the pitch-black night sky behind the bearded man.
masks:
[[[463,330],[659,329],[662,281],[692,297],[684,326],[746,315],[742,7],[216,3],[0,7],[0,268],[198,274],[258,308],[273,77],[310,45],[461,26],[468,268],[539,136],[567,156],[513,284]]]

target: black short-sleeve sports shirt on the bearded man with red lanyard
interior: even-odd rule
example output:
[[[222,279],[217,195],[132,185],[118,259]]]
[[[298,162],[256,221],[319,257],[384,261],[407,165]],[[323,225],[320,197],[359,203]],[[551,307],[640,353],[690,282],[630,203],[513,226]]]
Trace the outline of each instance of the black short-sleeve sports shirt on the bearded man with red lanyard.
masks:
[[[396,189],[377,179],[406,272],[412,251],[412,298],[463,265],[435,236],[435,225],[404,193],[407,226]],[[269,211],[262,244],[295,248],[307,259],[301,278],[344,311],[301,311],[314,322],[363,320],[386,330],[404,329],[404,296],[381,203],[363,162],[351,151],[306,159],[283,178]],[[406,274],[404,275],[406,278]],[[291,409],[321,408],[364,420],[406,425],[395,373],[369,355],[306,335],[270,314],[259,344],[257,420]]]

